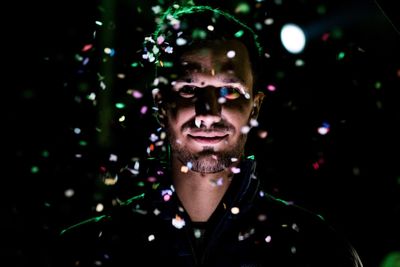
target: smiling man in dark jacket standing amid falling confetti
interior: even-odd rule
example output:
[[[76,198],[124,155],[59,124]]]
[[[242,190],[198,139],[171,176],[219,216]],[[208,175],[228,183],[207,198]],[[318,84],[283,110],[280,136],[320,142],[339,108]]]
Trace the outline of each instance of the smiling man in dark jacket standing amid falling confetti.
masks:
[[[322,218],[264,192],[245,155],[264,97],[259,51],[220,10],[166,12],[144,58],[165,81],[153,96],[167,165],[142,194],[63,231],[55,266],[362,266]]]

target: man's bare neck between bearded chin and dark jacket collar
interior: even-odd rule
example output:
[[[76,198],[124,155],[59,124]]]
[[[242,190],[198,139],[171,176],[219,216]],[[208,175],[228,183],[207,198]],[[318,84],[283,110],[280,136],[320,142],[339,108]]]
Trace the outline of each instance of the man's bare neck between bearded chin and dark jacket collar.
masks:
[[[233,173],[226,168],[216,173],[182,171],[182,163],[172,159],[172,179],[176,193],[193,222],[206,222],[228,190]]]

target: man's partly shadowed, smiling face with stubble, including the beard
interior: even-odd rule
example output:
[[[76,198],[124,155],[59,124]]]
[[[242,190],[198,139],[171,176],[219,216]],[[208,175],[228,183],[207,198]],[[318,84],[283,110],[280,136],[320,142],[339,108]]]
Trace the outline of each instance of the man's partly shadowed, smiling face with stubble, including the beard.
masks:
[[[239,41],[211,42],[180,58],[181,74],[164,97],[172,156],[193,171],[222,171],[243,155],[253,108],[253,75]],[[255,114],[257,114],[256,112]]]

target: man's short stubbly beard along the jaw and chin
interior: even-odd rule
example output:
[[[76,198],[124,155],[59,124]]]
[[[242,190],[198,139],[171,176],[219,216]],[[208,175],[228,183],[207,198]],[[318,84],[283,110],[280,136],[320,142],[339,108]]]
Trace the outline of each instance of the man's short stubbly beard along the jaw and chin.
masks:
[[[225,151],[215,151],[214,147],[204,146],[200,152],[190,152],[185,146],[177,142],[174,133],[167,129],[171,152],[183,165],[191,164],[191,170],[200,173],[220,172],[233,163],[233,159],[240,159],[244,152],[247,135],[240,134],[239,140]]]

